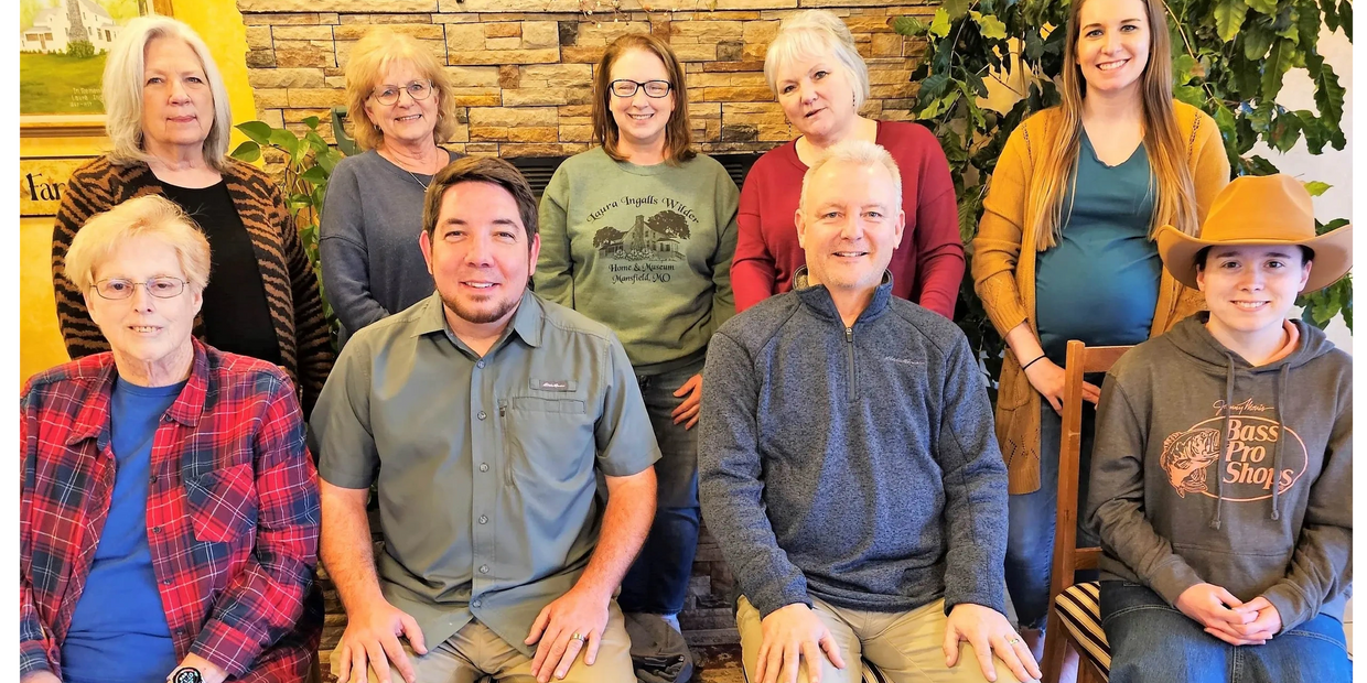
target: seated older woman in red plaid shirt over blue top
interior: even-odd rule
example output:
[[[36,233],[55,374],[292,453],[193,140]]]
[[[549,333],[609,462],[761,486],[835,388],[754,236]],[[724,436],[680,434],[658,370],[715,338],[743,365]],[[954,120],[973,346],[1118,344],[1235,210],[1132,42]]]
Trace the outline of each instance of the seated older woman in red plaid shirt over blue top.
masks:
[[[302,680],[319,493],[293,384],[191,336],[209,243],[163,197],[86,223],[67,273],[111,351],[18,398],[18,680]]]

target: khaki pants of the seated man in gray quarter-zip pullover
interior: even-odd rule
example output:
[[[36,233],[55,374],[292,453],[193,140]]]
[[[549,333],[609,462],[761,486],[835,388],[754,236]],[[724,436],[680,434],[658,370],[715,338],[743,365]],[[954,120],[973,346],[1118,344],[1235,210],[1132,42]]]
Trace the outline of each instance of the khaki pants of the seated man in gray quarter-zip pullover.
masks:
[[[860,612],[857,609],[843,609],[817,598],[812,598],[812,609],[822,619],[835,642],[841,647],[841,657],[845,660],[845,669],[835,668],[830,660],[822,656],[822,683],[858,683],[863,675],[863,663],[868,660],[882,671],[893,683],[983,683],[983,669],[977,665],[973,649],[966,643],[958,645],[958,665],[949,668],[945,665],[945,601],[936,600],[930,605],[912,612],[884,613]],[[750,683],[760,683],[755,678],[759,664],[760,641],[760,612],[750,605],[749,600],[741,597],[735,612],[735,626],[741,631],[741,658],[745,665],[745,676]],[[804,661],[798,671],[798,683],[807,683],[807,665]],[[1016,676],[1006,668],[1006,663],[992,657],[997,667],[998,683],[1017,683]]]

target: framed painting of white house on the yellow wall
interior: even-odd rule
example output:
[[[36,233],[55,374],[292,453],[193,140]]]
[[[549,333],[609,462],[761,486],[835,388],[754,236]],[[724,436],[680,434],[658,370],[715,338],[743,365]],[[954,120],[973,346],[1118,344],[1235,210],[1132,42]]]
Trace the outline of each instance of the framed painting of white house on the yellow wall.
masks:
[[[19,135],[104,128],[100,78],[128,20],[171,14],[171,0],[16,0],[15,117]]]

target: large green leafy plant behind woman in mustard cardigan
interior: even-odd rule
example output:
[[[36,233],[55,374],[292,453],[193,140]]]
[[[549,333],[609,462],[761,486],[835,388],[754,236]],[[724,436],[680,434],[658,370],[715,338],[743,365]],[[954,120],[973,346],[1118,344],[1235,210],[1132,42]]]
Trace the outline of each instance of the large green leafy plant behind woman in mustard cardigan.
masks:
[[[1055,81],[1064,66],[1062,27],[1069,3],[1061,0],[945,0],[927,23],[893,19],[898,33],[925,41],[912,81],[920,83],[917,119],[939,138],[958,194],[960,235],[977,232],[983,198],[1007,137],[1033,112],[1059,102]],[[1351,0],[1167,0],[1173,36],[1174,94],[1204,109],[1219,126],[1230,165],[1239,175],[1275,173],[1252,154],[1259,141],[1278,152],[1305,139],[1312,154],[1344,149],[1340,126],[1344,87],[1316,52],[1321,25],[1357,44],[1357,12]],[[1057,30],[1051,30],[1057,29]],[[1315,83],[1318,111],[1288,111],[1277,104],[1288,71],[1305,70]],[[1017,70],[1025,78],[1016,76]],[[1024,82],[1020,100],[1002,113],[986,108],[987,82]],[[1307,183],[1311,194],[1329,189]],[[1321,231],[1345,224],[1321,225]],[[968,254],[972,258],[972,254]],[[1325,326],[1341,317],[1357,333],[1353,276],[1299,302],[1304,317]],[[1003,342],[973,294],[965,273],[960,288],[960,326],[982,351],[991,377],[999,377]]]

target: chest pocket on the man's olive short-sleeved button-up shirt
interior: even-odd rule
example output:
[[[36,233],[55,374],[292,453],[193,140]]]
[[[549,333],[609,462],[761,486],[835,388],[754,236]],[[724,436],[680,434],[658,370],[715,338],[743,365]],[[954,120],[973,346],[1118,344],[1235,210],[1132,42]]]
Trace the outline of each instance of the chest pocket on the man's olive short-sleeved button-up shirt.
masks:
[[[592,470],[593,422],[580,398],[511,396],[499,406],[510,466],[507,484],[518,478],[573,485]]]

